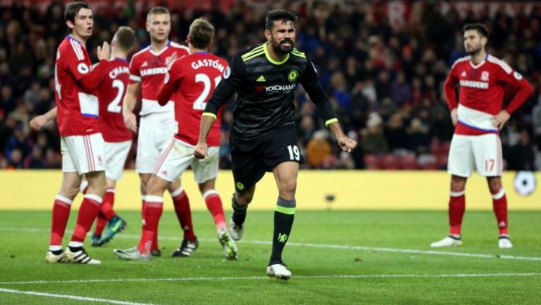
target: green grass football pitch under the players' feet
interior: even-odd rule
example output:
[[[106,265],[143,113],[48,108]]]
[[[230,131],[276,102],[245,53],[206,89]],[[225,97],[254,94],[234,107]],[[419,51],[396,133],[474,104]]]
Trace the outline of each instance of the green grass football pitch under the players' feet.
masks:
[[[88,266],[44,262],[50,212],[0,211],[0,304],[541,304],[540,211],[509,214],[506,250],[489,211],[466,211],[464,246],[452,249],[430,248],[446,235],[444,211],[297,211],[283,255],[289,281],[265,276],[272,211],[248,212],[238,261],[223,260],[208,212],[193,213],[199,249],[171,257],[182,239],[171,211],[161,257],[117,259],[112,250],[135,246],[141,231],[139,211],[120,216],[128,228],[109,244],[87,237],[102,261]]]

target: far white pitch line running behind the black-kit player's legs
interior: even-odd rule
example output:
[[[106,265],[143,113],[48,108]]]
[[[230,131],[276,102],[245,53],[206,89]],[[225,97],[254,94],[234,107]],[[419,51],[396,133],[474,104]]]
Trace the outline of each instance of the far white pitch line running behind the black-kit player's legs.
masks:
[[[42,228],[16,228],[16,227],[0,227],[0,231],[23,231],[23,232],[49,232],[49,230]],[[66,233],[70,230],[66,230]],[[91,233],[89,233],[91,234]],[[115,238],[122,239],[139,239],[139,235],[120,234]],[[180,242],[180,237],[159,237],[163,240],[172,240]],[[201,242],[216,242],[216,239],[200,238]],[[241,244],[272,244],[272,242],[264,240],[241,240]],[[348,246],[343,244],[311,244],[301,242],[288,242],[290,247],[311,247],[311,248],[325,248],[325,249],[346,249],[346,250],[362,250],[362,251],[380,251],[380,252],[393,252],[393,253],[408,253],[408,254],[427,254],[427,255],[442,255],[442,256],[462,256],[462,257],[476,257],[480,259],[514,259],[518,261],[541,261],[541,257],[536,256],[514,256],[506,254],[478,254],[468,252],[452,252],[452,251],[434,251],[434,250],[419,250],[419,249],[397,249],[397,248],[385,248],[385,247],[365,247],[365,246]]]

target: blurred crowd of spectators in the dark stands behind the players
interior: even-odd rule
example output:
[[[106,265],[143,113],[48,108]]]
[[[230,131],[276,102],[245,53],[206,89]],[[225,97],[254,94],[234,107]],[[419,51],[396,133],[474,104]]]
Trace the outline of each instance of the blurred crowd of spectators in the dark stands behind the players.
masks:
[[[540,168],[541,148],[541,5],[529,15],[511,18],[498,11],[492,18],[473,12],[461,17],[423,4],[420,20],[392,27],[387,16],[369,4],[325,2],[285,7],[299,14],[298,49],[315,63],[321,84],[332,100],[349,137],[359,139],[352,154],[341,153],[301,87],[297,87],[297,130],[305,168],[444,169],[453,126],[442,84],[452,63],[464,56],[461,25],[482,22],[491,31],[490,54],[503,58],[525,75],[534,94],[501,132],[510,170]],[[294,7],[293,7],[294,5]],[[139,48],[148,45],[147,6],[124,10],[93,9],[95,30],[87,49],[96,47],[120,25],[136,30]],[[29,121],[54,102],[54,61],[66,36],[63,3],[51,1],[43,11],[20,1],[0,7],[0,168],[60,168],[56,125],[33,132]],[[236,51],[263,41],[262,14],[235,2],[222,10],[169,7],[171,39],[183,43],[188,25],[205,16],[216,27],[213,51],[230,59]],[[512,97],[514,92],[506,92]],[[229,168],[228,126],[234,101],[223,116],[220,167]],[[135,166],[135,147],[127,168]],[[536,161],[537,160],[537,161]]]

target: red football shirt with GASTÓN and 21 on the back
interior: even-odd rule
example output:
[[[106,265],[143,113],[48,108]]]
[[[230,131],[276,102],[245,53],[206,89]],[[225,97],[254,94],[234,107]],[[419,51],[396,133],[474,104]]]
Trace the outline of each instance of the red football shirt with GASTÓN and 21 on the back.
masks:
[[[163,87],[159,90],[158,101],[175,102],[175,120],[178,132],[175,137],[192,145],[199,139],[199,124],[209,100],[228,62],[216,55],[201,52],[184,56],[174,61],[166,76]],[[207,143],[209,147],[220,146],[220,120],[222,111],[218,111],[216,122],[212,126]]]

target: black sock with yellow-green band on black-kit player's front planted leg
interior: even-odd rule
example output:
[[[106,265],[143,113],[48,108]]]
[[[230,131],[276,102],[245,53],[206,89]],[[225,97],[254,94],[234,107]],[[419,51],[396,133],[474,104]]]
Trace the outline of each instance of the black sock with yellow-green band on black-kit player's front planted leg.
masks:
[[[296,203],[295,199],[289,201],[278,197],[274,211],[273,253],[270,254],[269,266],[282,263],[282,251],[287,239],[290,239]]]

